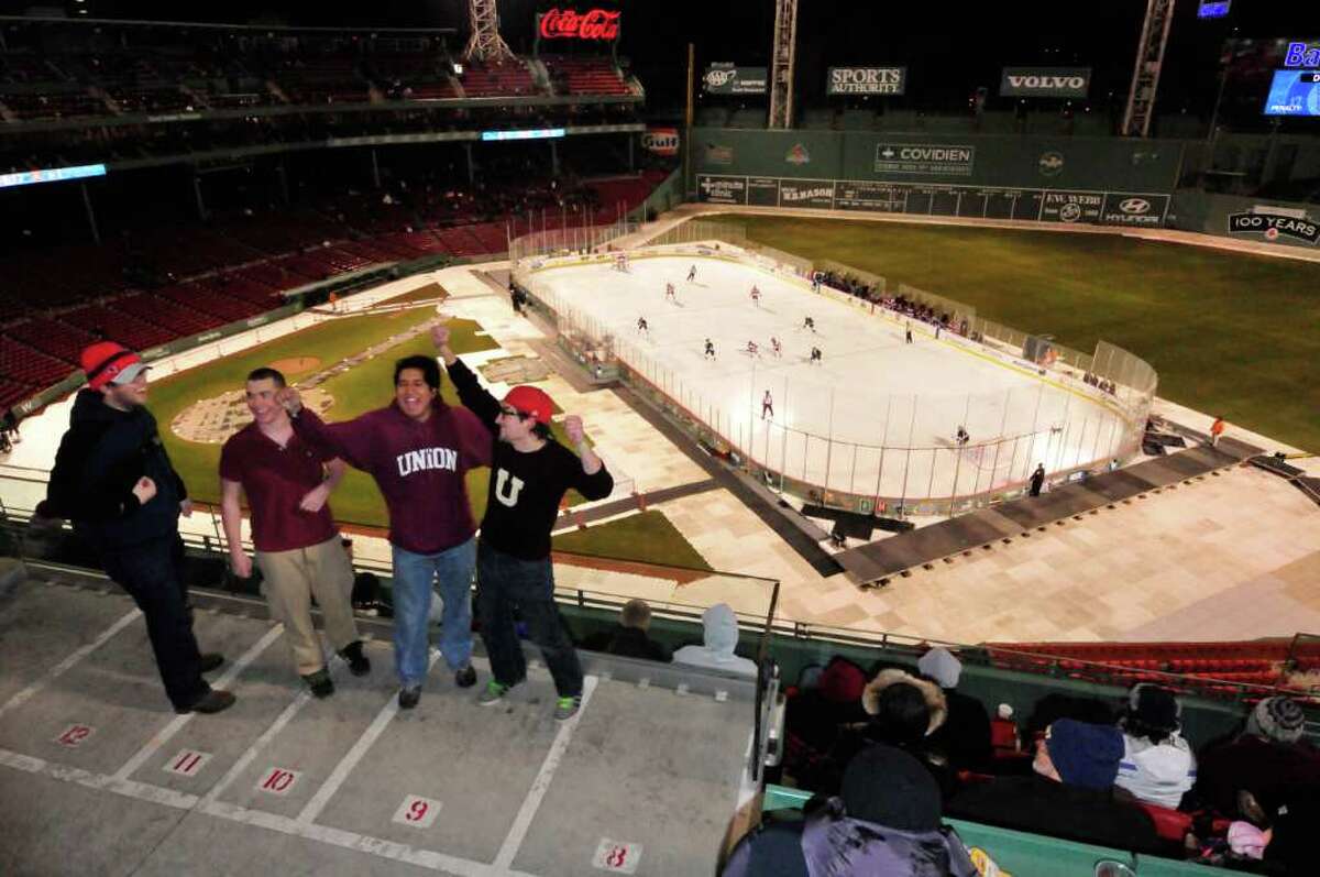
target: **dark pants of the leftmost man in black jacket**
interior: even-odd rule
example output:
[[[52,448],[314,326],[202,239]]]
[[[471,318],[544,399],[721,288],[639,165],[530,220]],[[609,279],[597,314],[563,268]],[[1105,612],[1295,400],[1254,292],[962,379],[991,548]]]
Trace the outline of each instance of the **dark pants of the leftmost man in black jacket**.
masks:
[[[183,584],[183,542],[176,536],[136,545],[96,545],[102,567],[147,617],[165,693],[176,707],[190,707],[211,689],[202,679],[193,635],[193,612]]]

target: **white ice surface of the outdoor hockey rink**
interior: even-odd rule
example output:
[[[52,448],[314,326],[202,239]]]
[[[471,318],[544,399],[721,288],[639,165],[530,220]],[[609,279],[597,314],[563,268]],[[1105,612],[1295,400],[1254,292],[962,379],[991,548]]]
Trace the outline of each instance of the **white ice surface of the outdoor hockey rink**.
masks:
[[[620,361],[735,449],[825,490],[968,495],[1023,481],[1040,462],[1059,472],[1106,461],[1123,442],[1121,409],[1092,387],[1041,378],[948,333],[935,338],[933,326],[916,321],[907,343],[898,314],[865,313],[750,262],[634,255],[627,272],[546,267],[529,283],[561,325],[566,318],[610,339]],[[705,355],[708,338],[714,358]],[[960,425],[970,436],[961,446]]]

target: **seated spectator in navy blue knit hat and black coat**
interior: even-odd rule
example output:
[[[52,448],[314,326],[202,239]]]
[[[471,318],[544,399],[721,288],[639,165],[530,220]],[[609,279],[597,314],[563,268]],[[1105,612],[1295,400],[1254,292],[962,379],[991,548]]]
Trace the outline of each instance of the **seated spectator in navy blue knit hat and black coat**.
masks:
[[[973,783],[953,796],[953,816],[1084,844],[1162,853],[1150,815],[1114,794],[1123,737],[1113,725],[1060,719],[1045,729],[1031,777]],[[1122,792],[1126,796],[1126,792]]]

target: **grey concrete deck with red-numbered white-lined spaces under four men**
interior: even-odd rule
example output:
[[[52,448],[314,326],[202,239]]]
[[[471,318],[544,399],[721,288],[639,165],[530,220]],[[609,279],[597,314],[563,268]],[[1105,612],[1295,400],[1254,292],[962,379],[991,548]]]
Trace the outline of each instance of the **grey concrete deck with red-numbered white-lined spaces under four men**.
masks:
[[[211,680],[239,696],[218,716],[170,711],[114,585],[34,568],[0,602],[0,874],[713,872],[752,682],[582,652],[587,697],[561,724],[543,664],[478,707],[441,660],[400,713],[388,634],[370,676],[335,660],[315,700],[264,613],[194,602],[227,659]]]

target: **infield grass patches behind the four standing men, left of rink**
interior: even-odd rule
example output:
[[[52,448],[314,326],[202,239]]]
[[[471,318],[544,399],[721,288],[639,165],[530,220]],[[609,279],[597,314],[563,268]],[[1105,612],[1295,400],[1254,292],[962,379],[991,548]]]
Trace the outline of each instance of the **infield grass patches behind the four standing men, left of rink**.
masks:
[[[405,298],[393,300],[391,304]],[[240,388],[247,374],[260,366],[297,359],[318,363],[301,372],[286,370],[285,378],[294,383],[345,357],[358,354],[389,335],[428,322],[433,317],[434,309],[430,306],[385,314],[343,317],[169,378],[152,380],[150,408],[161,424],[161,435],[170,458],[187,483],[193,499],[205,503],[219,502],[220,445],[186,441],[174,435],[169,425],[180,412],[197,400]],[[480,326],[470,320],[450,320],[449,326],[451,332],[450,345],[459,355],[498,347],[490,337],[480,333]],[[321,384],[321,388],[334,398],[334,405],[326,413],[326,419],[330,421],[348,420],[372,408],[389,404],[393,399],[395,361],[411,354],[434,355],[434,353],[430,335],[424,333],[330,378]],[[441,396],[450,404],[458,404],[457,394],[447,380],[441,387]],[[560,424],[554,424],[552,431],[560,441],[565,441]],[[467,494],[473,506],[473,516],[477,520],[480,520],[486,511],[488,473],[488,469],[482,468],[467,474]],[[570,491],[568,501],[569,505],[577,505],[582,502],[582,497]],[[388,514],[380,491],[376,490],[371,475],[356,469],[347,472],[343,482],[330,498],[330,506],[335,520],[342,524],[388,526]],[[557,536],[554,539],[556,548],[576,553],[709,569],[701,555],[664,515],[647,514],[634,518],[595,524],[585,531]]]

